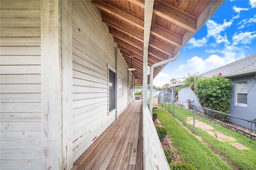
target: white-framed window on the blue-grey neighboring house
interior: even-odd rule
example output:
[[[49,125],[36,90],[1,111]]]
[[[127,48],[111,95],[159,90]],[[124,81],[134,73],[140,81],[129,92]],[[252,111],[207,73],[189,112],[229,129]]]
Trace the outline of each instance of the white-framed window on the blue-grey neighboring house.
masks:
[[[247,81],[237,83],[237,103],[247,104]]]

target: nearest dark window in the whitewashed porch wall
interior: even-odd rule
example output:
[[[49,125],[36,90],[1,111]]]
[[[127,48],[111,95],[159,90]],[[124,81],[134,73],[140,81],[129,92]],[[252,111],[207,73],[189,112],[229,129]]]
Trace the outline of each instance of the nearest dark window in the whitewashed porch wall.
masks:
[[[109,112],[116,109],[116,73],[109,69]]]

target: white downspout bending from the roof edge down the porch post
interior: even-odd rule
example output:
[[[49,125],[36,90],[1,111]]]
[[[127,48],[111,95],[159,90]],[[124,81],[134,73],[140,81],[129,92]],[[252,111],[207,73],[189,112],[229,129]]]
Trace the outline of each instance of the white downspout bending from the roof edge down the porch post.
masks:
[[[153,69],[155,67],[158,67],[159,65],[163,65],[166,63],[170,63],[174,60],[176,60],[180,55],[180,52],[178,52],[178,54],[176,54],[174,57],[166,59],[164,61],[160,61],[158,63],[154,63],[151,67],[150,67],[150,90],[149,90],[149,111],[150,111],[150,115],[152,117],[152,112],[153,112]],[[167,89],[166,89],[167,90]]]

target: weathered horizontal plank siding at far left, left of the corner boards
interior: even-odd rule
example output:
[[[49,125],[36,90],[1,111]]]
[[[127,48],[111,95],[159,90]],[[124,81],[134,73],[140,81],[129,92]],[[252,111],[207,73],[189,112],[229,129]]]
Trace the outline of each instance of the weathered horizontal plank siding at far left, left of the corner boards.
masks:
[[[0,169],[41,169],[41,2],[0,4]]]

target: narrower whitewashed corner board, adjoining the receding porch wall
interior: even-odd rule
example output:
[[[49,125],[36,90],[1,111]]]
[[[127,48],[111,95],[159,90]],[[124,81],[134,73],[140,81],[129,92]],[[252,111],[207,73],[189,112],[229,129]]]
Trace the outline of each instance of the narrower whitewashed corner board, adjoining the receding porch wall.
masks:
[[[62,159],[63,170],[73,167],[72,130],[72,1],[61,1]]]

